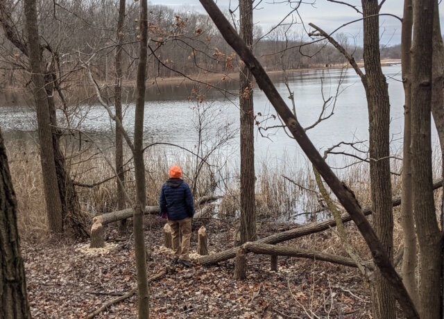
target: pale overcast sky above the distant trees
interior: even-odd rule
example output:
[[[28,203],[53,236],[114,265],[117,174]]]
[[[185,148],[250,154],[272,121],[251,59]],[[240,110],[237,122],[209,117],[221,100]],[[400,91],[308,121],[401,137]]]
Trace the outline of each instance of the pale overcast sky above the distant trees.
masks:
[[[255,0],[257,3],[259,0]],[[343,0],[347,1],[347,0]],[[181,10],[182,8],[187,8],[187,10],[205,12],[198,0],[151,0],[153,4],[162,4]],[[231,5],[230,5],[231,2]],[[254,12],[254,22],[259,26],[262,26],[264,31],[278,24],[287,14],[290,12],[291,7],[289,2],[272,4],[273,2],[284,2],[282,0],[263,0],[257,6],[257,10]],[[292,0],[292,2],[296,2]],[[327,32],[331,32],[338,28],[342,24],[353,19],[359,19],[359,13],[357,13],[352,8],[344,6],[338,3],[331,3],[327,0],[305,0],[305,3],[314,2],[311,4],[302,4],[299,9],[299,13],[304,20],[305,24],[312,22],[317,26],[323,28]],[[359,10],[361,10],[360,0],[348,0],[348,3],[356,5]],[[227,11],[228,8],[236,8],[237,0],[219,0],[217,4],[219,8],[223,11]],[[386,0],[382,6],[381,13],[391,13],[393,15],[398,15],[402,17],[402,5],[404,1],[402,0]],[[444,12],[444,1],[441,2],[440,11]],[[296,12],[293,15],[297,21],[300,21],[297,17]],[[441,14],[441,30],[444,30],[444,19]],[[291,18],[290,18],[291,19]],[[290,20],[288,20],[290,21]],[[401,42],[401,22],[393,17],[382,16],[379,18],[379,24],[381,26],[381,44],[395,45]],[[307,26],[308,27],[308,26]],[[357,44],[362,45],[362,21],[355,22],[349,26],[341,29],[341,32],[348,33],[350,37],[355,37]],[[442,32],[441,32],[442,33]]]

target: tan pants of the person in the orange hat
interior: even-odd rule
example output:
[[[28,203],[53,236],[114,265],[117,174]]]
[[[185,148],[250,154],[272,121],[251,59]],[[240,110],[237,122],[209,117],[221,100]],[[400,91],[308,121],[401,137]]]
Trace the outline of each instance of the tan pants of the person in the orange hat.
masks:
[[[174,255],[178,259],[189,260],[189,240],[191,239],[191,218],[187,217],[180,221],[168,221],[173,237]],[[182,234],[182,245],[180,245],[180,234]]]

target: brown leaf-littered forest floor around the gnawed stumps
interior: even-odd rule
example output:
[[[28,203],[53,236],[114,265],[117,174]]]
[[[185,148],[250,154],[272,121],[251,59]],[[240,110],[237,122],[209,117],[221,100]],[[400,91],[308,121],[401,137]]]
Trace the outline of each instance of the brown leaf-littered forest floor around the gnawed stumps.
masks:
[[[194,223],[191,256],[196,257]],[[217,266],[171,266],[171,250],[162,247],[164,220],[146,218],[148,276],[170,269],[150,287],[151,318],[370,318],[370,288],[355,268],[323,261],[280,257],[279,271],[269,257],[248,255],[246,280],[232,279],[234,260]],[[210,251],[232,246],[234,224],[205,223]],[[294,225],[262,223],[260,237]],[[34,318],[85,318],[105,302],[136,284],[135,253],[130,233],[105,230],[107,246],[89,243],[22,243],[31,313]],[[333,234],[305,239],[318,250],[329,247]],[[296,239],[287,244],[298,245]],[[324,249],[325,250],[325,249]],[[137,296],[112,305],[96,318],[136,318]]]

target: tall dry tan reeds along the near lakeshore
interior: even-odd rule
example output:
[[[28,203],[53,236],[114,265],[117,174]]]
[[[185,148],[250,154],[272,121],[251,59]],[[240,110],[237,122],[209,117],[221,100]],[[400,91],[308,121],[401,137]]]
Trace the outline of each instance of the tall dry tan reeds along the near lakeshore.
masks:
[[[24,239],[39,239],[47,236],[48,226],[45,213],[44,194],[40,169],[40,157],[35,144],[10,144],[8,156],[12,181],[17,193],[19,231]],[[72,150],[70,150],[71,152]],[[128,153],[129,154],[129,153]],[[77,182],[93,184],[114,175],[105,160],[114,162],[111,151],[105,155],[97,153],[93,148],[69,157],[71,176]],[[125,161],[130,158],[126,157]],[[204,165],[196,185],[198,196],[205,194],[221,194],[223,199],[217,207],[219,218],[234,218],[239,216],[239,171],[223,166],[226,159],[211,158],[208,162],[214,166]],[[184,179],[192,186],[196,168],[196,157],[177,153],[164,148],[149,148],[145,154],[147,205],[158,205],[158,194],[162,184],[168,178],[169,167],[180,164],[184,171]],[[400,172],[400,161],[393,161],[393,171]],[[224,167],[217,169],[217,167]],[[441,161],[436,158],[434,167],[441,167]],[[125,185],[130,198],[134,198],[133,167],[126,166]],[[435,175],[440,173],[436,169]],[[355,194],[362,206],[370,205],[370,178],[367,164],[357,164],[340,171],[341,178]],[[307,164],[305,169],[298,169],[290,160],[271,162],[266,160],[259,164],[256,172],[256,209],[258,221],[273,219],[276,221],[295,220],[296,215],[305,214],[305,218],[297,221],[316,221],[319,218],[330,217],[327,212],[319,212],[321,198],[316,193],[316,182]],[[287,177],[288,179],[284,178]],[[291,180],[291,181],[290,181]],[[293,181],[293,182],[292,182]],[[401,193],[401,178],[392,176],[393,195]],[[307,190],[307,189],[311,189]],[[96,187],[77,187],[80,205],[85,212],[95,216],[117,209],[117,187],[115,180],[109,180]],[[436,205],[440,205],[441,191],[435,193]],[[402,240],[399,209],[394,210],[395,216],[395,246]],[[361,243],[355,227],[349,226],[350,236],[354,243]],[[355,234],[356,233],[356,234]],[[334,237],[334,236],[333,236]],[[336,238],[336,237],[334,237]],[[335,239],[339,241],[339,239]],[[336,244],[334,245],[336,246]],[[338,246],[340,247],[340,245]],[[362,249],[366,245],[362,242]]]

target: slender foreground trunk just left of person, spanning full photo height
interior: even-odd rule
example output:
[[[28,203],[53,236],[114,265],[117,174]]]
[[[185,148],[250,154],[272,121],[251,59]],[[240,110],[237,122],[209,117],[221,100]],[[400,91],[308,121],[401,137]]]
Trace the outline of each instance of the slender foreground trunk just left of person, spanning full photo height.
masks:
[[[145,164],[144,164],[144,111],[145,111],[145,78],[146,78],[146,51],[148,50],[148,6],[146,0],[140,1],[140,51],[137,65],[137,98],[134,125],[134,168],[136,179],[136,204],[134,207],[134,244],[137,269],[137,288],[139,292],[139,318],[149,317],[148,281],[146,279],[144,211],[145,191]]]

